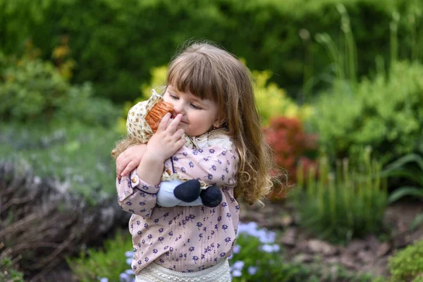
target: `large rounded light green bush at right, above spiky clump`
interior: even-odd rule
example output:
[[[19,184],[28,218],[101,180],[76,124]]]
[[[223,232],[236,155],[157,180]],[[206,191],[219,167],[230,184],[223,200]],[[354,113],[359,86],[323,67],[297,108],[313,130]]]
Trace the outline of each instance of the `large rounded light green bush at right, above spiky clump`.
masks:
[[[367,145],[383,164],[413,152],[423,128],[423,66],[394,63],[388,78],[378,73],[357,87],[335,85],[314,105],[312,127],[337,157]]]

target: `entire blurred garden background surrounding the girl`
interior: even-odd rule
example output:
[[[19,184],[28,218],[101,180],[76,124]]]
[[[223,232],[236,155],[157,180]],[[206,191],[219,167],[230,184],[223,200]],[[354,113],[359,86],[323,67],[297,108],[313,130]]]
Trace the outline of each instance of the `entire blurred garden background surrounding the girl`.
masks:
[[[233,281],[423,281],[423,2],[0,0],[0,281],[132,281],[111,148],[187,40],[255,76],[288,173]],[[283,182],[283,181],[282,181]]]

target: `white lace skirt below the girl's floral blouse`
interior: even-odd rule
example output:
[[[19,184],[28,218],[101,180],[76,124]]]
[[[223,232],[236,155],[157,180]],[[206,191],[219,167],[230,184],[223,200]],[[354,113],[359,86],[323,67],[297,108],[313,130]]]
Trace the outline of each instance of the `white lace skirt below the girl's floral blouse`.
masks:
[[[231,282],[228,259],[201,271],[183,273],[149,264],[135,277],[135,282]]]

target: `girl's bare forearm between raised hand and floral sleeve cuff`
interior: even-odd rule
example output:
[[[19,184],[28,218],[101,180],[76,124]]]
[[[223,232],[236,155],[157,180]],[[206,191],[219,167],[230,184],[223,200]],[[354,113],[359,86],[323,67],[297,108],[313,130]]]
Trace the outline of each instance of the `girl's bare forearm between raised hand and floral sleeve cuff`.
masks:
[[[152,185],[158,185],[160,183],[163,170],[164,160],[157,159],[157,157],[154,157],[152,154],[148,154],[146,152],[137,168],[137,174],[140,176],[140,179],[145,182]]]

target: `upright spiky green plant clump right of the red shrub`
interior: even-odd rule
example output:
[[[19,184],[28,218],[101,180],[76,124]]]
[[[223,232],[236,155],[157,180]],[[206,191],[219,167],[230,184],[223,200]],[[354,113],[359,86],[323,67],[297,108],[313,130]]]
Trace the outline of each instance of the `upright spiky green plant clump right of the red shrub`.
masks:
[[[300,213],[300,224],[313,235],[336,243],[360,238],[383,230],[387,205],[386,178],[379,175],[381,164],[372,160],[370,149],[357,168],[348,159],[336,161],[335,173],[328,159],[319,159],[319,173],[312,167],[302,181],[298,166],[298,189],[294,200]]]

